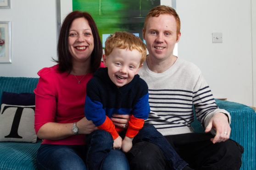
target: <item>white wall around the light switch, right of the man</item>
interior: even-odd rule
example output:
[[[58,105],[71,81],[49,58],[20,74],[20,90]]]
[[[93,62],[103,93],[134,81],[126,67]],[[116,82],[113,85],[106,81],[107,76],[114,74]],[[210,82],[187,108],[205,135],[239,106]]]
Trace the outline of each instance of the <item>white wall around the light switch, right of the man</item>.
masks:
[[[253,106],[250,2],[176,1],[181,19],[178,56],[199,66],[214,97]],[[212,32],[222,32],[223,43],[212,43]]]

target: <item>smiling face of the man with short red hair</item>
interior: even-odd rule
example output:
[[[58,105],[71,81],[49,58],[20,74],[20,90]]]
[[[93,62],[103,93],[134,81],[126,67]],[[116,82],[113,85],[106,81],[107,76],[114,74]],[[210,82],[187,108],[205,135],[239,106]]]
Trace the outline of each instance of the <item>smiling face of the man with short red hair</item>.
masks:
[[[169,14],[150,17],[146,31],[143,30],[149,56],[157,60],[165,60],[173,56],[173,48],[175,43],[178,43],[179,37],[176,20]]]

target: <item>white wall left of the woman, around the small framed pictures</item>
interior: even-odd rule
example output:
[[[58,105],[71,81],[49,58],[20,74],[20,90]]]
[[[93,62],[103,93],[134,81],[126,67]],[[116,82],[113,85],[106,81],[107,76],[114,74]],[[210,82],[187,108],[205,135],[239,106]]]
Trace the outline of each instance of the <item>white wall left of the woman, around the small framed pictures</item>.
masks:
[[[55,0],[11,0],[0,9],[0,21],[11,21],[12,63],[0,64],[0,76],[37,77],[56,58]]]

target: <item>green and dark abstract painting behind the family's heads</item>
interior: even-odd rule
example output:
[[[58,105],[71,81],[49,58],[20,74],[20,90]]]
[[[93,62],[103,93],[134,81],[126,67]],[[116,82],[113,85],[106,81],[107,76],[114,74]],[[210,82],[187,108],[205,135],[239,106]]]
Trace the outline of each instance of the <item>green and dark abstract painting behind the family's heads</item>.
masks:
[[[86,11],[94,18],[102,40],[116,31],[142,37],[145,17],[161,0],[72,0],[73,11]]]

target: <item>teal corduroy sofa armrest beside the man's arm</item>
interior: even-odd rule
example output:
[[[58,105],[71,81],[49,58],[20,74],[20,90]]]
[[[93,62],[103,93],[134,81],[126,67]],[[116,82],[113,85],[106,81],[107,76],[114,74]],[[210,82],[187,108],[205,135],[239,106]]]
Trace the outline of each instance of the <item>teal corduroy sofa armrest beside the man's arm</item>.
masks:
[[[216,104],[231,115],[230,138],[245,149],[240,170],[256,167],[256,112],[249,106],[216,99]]]

